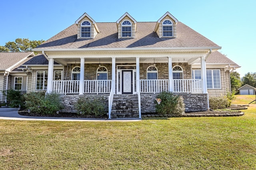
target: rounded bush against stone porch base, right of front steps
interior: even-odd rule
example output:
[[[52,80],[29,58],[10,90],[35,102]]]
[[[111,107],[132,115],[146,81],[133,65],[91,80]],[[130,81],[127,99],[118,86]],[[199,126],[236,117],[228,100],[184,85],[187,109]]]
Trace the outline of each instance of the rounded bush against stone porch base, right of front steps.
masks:
[[[174,95],[172,92],[161,92],[157,98],[161,99],[160,105],[156,103],[156,112],[161,115],[166,115],[166,114],[176,114],[176,115],[181,115],[185,111],[185,106],[183,103],[183,98]]]

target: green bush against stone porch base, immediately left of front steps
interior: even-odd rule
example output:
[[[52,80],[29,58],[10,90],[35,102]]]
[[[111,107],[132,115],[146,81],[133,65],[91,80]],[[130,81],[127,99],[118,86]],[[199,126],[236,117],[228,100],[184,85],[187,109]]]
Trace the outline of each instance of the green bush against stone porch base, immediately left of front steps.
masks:
[[[102,117],[106,116],[107,112],[107,106],[104,103],[103,97],[97,97],[95,99],[80,97],[74,107],[78,114]]]

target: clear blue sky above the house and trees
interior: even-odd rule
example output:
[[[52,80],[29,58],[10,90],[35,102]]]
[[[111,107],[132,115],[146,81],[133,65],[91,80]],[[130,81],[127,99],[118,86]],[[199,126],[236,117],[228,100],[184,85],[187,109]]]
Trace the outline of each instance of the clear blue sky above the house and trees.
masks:
[[[86,12],[96,22],[116,22],[128,12],[137,22],[156,22],[167,11],[222,47],[241,66],[240,77],[256,72],[256,0],[4,0],[0,45],[16,38],[48,40]]]

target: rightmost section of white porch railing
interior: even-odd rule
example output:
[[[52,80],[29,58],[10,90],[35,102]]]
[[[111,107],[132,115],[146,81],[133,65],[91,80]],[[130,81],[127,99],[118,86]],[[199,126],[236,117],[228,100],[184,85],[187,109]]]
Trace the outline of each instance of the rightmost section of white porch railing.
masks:
[[[202,80],[174,79],[172,87],[174,93],[202,93]]]

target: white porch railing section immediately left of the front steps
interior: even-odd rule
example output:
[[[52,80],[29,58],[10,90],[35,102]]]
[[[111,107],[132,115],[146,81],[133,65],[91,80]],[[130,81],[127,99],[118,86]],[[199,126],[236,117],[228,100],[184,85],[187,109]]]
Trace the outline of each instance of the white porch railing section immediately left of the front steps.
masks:
[[[110,93],[111,80],[85,80],[84,93]]]

